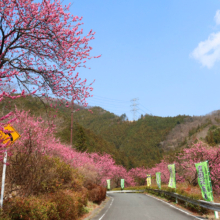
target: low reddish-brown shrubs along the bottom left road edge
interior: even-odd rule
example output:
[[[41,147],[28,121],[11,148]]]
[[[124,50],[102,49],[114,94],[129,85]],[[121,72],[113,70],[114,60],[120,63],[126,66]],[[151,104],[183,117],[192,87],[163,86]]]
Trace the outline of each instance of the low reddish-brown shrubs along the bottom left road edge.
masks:
[[[59,190],[38,197],[17,197],[4,202],[0,220],[74,220],[86,212],[87,201],[85,188],[81,192]]]

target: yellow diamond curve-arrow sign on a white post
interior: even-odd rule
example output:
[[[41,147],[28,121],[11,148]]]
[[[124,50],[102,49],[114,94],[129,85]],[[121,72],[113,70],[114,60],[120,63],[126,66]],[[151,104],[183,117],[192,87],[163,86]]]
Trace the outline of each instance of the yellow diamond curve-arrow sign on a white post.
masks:
[[[0,131],[0,139],[3,140],[3,144],[8,143],[8,146],[11,146],[18,138],[20,138],[20,134],[11,126],[7,125],[4,127],[4,130],[8,130],[10,133],[4,133]],[[6,163],[7,163],[7,149],[4,153],[4,160],[3,160],[3,172],[2,172],[2,189],[1,189],[1,199],[0,199],[0,206],[1,209],[3,207],[3,197],[4,197],[4,189],[5,189],[5,173],[6,173]]]

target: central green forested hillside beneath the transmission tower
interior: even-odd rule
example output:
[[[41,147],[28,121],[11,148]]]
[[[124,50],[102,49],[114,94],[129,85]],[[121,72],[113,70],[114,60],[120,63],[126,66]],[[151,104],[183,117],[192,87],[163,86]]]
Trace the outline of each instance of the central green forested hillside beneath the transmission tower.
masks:
[[[76,112],[74,120],[125,152],[132,158],[131,166],[153,166],[158,163],[163,156],[160,142],[187,117],[145,115],[138,121],[129,122],[124,115],[118,117],[100,107],[91,110],[93,114],[87,110]]]

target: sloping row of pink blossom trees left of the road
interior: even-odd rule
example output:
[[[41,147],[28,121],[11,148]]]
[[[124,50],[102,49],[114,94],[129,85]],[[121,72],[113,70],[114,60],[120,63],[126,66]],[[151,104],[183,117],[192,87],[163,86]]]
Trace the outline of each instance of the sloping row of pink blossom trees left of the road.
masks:
[[[123,167],[115,164],[109,154],[78,152],[68,145],[62,144],[54,137],[55,126],[52,122],[44,121],[41,117],[35,118],[29,112],[15,110],[16,120],[13,126],[20,133],[18,139],[9,149],[9,156],[16,153],[30,153],[59,157],[72,167],[96,173],[95,183],[106,185],[111,179],[117,186],[120,180],[125,179],[126,186],[135,185],[133,177]]]

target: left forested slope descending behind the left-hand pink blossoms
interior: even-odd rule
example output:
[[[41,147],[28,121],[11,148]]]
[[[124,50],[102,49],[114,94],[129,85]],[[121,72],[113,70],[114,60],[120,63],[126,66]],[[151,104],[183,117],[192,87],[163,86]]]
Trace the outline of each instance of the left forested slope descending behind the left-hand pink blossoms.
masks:
[[[43,101],[45,101],[43,99]],[[49,103],[51,104],[51,103]],[[41,116],[45,121],[56,125],[56,137],[62,143],[70,144],[70,122],[71,122],[71,109],[61,105],[57,108],[51,108],[48,103],[43,103],[36,97],[25,97],[15,100],[5,99],[0,103],[0,116],[3,116],[15,108],[30,111],[34,116]],[[81,106],[74,105],[74,111],[84,109]],[[91,115],[88,110],[86,112]],[[104,140],[101,136],[95,134],[91,129],[86,129],[79,125],[76,121],[73,122],[73,147],[78,148],[80,151],[87,150],[88,152],[108,153],[112,155],[117,164],[129,167],[129,157],[123,151],[116,149],[114,144]]]

